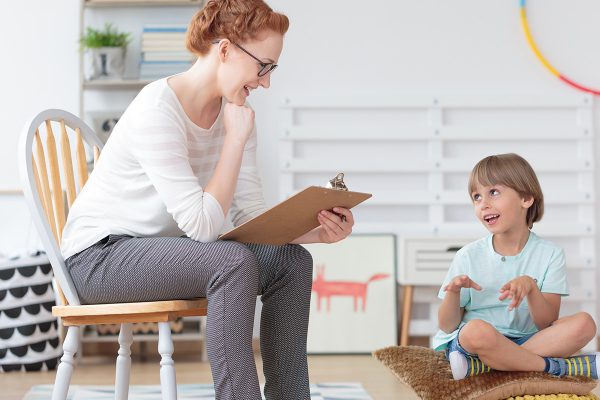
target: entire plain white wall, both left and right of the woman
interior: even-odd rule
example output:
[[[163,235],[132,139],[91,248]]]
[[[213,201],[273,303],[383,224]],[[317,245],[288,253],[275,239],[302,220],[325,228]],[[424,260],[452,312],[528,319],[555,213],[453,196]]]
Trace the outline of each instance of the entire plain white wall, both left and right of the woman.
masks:
[[[528,3],[533,34],[548,59],[571,78],[600,88],[600,25],[594,20],[600,3]],[[250,99],[269,203],[278,199],[278,107],[286,96],[573,90],[528,49],[517,0],[272,0],[270,5],[290,17],[291,27],[271,89]],[[46,107],[78,112],[78,15],[76,0],[0,5],[0,40],[6,41],[0,43],[0,190],[18,187],[17,135],[27,117]],[[26,213],[19,203],[18,197],[0,197],[0,252],[27,244]]]

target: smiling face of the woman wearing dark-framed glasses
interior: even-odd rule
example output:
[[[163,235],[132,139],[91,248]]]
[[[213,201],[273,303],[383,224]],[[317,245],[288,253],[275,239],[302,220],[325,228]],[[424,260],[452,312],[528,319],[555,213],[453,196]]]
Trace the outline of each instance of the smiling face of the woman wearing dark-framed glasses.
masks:
[[[264,64],[277,64],[282,48],[283,36],[273,31],[265,31],[256,39],[243,43],[229,42],[224,50],[220,48],[219,82],[223,96],[229,102],[241,106],[246,103],[252,90],[259,86],[268,88],[271,85],[272,71],[260,77],[258,73]],[[264,71],[268,69],[269,66]]]

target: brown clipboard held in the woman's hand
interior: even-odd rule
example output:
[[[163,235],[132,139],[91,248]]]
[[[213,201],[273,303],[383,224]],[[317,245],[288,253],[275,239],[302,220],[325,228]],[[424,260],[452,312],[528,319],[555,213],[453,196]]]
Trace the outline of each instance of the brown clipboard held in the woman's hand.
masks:
[[[289,199],[221,235],[220,240],[283,245],[319,226],[317,214],[334,207],[352,208],[370,193],[310,186]]]

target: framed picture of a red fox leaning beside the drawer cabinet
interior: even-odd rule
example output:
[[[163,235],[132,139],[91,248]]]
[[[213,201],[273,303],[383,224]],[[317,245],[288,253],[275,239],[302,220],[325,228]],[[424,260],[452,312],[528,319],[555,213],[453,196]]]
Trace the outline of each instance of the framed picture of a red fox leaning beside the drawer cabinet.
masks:
[[[353,234],[313,256],[309,353],[371,353],[398,342],[396,237]]]

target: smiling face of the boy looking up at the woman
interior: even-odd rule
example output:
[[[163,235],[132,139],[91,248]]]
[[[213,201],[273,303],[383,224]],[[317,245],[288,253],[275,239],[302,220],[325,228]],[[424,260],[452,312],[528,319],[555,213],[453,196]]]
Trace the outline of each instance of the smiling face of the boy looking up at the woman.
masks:
[[[527,228],[527,210],[533,198],[524,199],[514,189],[503,185],[477,185],[471,193],[475,215],[494,234]]]

